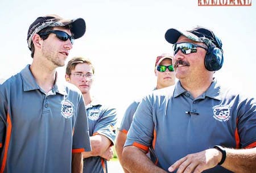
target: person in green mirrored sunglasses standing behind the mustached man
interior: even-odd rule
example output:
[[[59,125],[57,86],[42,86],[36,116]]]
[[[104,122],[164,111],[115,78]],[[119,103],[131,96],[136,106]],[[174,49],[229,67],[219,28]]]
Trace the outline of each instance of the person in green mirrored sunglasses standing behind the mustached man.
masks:
[[[157,77],[156,87],[154,90],[158,90],[164,87],[172,86],[175,84],[174,67],[172,66],[172,56],[164,53],[156,57],[155,61],[155,75]],[[115,150],[117,151],[119,162],[122,163],[122,151],[123,145],[127,138],[127,132],[130,129],[131,122],[133,121],[134,113],[139,106],[141,100],[135,100],[126,109],[125,115],[123,115],[122,123],[118,128],[117,140],[115,144]],[[123,171],[129,173],[124,167]]]

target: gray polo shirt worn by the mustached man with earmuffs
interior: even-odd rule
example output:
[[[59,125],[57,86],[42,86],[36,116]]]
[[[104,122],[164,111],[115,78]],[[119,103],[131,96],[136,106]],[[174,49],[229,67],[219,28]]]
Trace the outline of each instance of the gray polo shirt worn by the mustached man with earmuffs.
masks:
[[[255,147],[255,99],[244,98],[215,80],[193,99],[177,82],[175,87],[153,91],[142,100],[127,134],[128,145],[145,151],[150,147],[155,155],[151,160],[166,171],[185,155],[214,145]],[[216,166],[204,172],[230,171]]]

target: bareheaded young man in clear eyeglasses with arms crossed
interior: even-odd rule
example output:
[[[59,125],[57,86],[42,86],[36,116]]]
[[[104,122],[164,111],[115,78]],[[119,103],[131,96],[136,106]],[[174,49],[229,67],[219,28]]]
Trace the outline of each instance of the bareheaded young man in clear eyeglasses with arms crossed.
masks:
[[[107,161],[113,158],[112,146],[115,140],[117,112],[91,95],[94,66],[87,58],[73,57],[68,62],[65,78],[82,92],[88,116],[92,151],[82,153],[83,173],[106,173],[108,172]]]

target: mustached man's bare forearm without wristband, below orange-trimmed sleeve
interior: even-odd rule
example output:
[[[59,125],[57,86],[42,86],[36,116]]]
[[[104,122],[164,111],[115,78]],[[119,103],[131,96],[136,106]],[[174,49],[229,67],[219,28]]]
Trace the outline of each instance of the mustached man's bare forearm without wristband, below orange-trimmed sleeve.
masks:
[[[131,173],[166,173],[162,168],[155,166],[142,150],[135,146],[126,146],[122,153],[123,167]]]

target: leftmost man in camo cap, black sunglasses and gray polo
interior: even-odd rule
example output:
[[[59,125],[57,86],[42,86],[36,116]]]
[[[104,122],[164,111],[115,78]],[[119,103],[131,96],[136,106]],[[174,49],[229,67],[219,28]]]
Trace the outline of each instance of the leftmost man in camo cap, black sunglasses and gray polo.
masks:
[[[56,68],[84,33],[82,18],[47,15],[31,24],[32,64],[0,86],[0,172],[82,170],[81,152],[91,150],[84,100]]]

